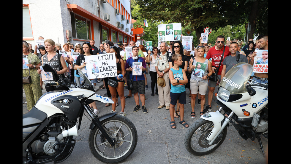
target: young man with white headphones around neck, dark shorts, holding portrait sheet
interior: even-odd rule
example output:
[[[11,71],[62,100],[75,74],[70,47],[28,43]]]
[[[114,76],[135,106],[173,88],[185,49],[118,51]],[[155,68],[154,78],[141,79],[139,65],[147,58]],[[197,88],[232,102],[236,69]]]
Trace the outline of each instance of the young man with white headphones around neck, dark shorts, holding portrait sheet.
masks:
[[[133,71],[133,63],[140,62],[142,63],[139,68],[142,70],[142,74],[140,76],[133,76],[132,71]],[[144,71],[146,71],[146,61],[143,59],[143,57],[138,57],[138,47],[133,46],[132,47],[132,57],[129,57],[126,60],[125,63],[125,71],[129,72],[129,79],[133,79],[133,89],[131,92],[134,95],[135,99],[135,108],[133,112],[137,112],[140,110],[140,105],[139,105],[139,96],[138,93],[140,94],[140,101],[142,103],[142,110],[143,113],[148,113],[148,110],[146,109],[146,97],[145,97],[145,87],[146,87],[146,82],[145,82],[145,77],[143,76]]]

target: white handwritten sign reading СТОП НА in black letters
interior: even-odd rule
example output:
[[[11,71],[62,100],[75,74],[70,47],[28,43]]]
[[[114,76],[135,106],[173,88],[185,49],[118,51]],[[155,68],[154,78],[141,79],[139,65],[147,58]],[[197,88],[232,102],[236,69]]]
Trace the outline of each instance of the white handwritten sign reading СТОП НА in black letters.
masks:
[[[117,76],[115,53],[85,56],[89,79]]]

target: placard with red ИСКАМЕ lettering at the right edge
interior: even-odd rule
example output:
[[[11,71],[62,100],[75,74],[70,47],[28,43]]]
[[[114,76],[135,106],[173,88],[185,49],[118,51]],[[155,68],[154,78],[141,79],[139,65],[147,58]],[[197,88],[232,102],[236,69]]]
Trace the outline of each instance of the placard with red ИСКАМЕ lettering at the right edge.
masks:
[[[268,50],[255,50],[257,56],[254,57],[254,70],[257,73],[268,73],[268,63],[269,63],[269,51]]]

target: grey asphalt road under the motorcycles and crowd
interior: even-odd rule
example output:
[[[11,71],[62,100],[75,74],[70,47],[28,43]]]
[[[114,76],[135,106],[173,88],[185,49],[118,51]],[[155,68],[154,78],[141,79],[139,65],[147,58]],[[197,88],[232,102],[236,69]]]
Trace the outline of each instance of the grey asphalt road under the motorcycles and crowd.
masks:
[[[222,145],[213,153],[204,156],[195,156],[186,150],[184,145],[184,138],[187,128],[179,124],[179,118],[175,118],[176,129],[170,128],[170,114],[169,110],[157,109],[159,106],[158,96],[151,96],[151,79],[149,74],[148,87],[146,90],[146,108],[148,113],[143,113],[142,110],[133,112],[135,107],[134,98],[126,99],[125,113],[137,129],[138,141],[135,151],[132,155],[122,163],[137,164],[137,163],[207,163],[207,164],[260,164],[266,163],[257,139],[254,141],[248,139],[244,140],[238,134],[237,130],[231,126],[227,128],[227,136]],[[102,83],[97,83],[97,87],[103,86]],[[215,92],[217,91],[217,87]],[[45,93],[45,90],[43,90]],[[106,89],[98,90],[98,94],[104,95]],[[128,90],[124,90],[124,95],[128,94]],[[23,91],[23,101],[25,102],[25,94]],[[188,104],[190,99],[189,89],[186,89],[186,104],[184,120],[189,124],[199,119],[200,105],[195,104],[196,118],[190,117],[191,105]],[[213,96],[212,111],[219,109],[219,106],[214,102],[216,97]],[[206,96],[206,102],[207,102]],[[119,100],[120,103],[120,100]],[[141,102],[140,102],[141,103]],[[104,103],[97,102],[97,107],[100,110],[98,115],[109,113],[112,107],[105,107]],[[27,113],[26,104],[23,104],[23,114]],[[121,105],[116,107],[116,111],[121,111]],[[91,164],[102,163],[97,160],[90,152],[88,145],[88,135],[90,132],[89,125],[91,121],[83,117],[83,121],[78,131],[78,136],[74,137],[77,140],[76,146],[71,156],[64,161],[64,164]],[[262,137],[263,147],[265,152],[267,150],[268,139]]]

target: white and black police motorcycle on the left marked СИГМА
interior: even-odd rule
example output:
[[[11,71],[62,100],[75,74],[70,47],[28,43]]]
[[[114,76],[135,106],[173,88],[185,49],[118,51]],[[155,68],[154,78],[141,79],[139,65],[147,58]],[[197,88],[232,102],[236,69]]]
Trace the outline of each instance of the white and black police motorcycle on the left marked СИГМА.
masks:
[[[22,162],[60,163],[66,160],[74,149],[73,136],[78,135],[85,111],[92,120],[88,140],[92,154],[107,163],[128,158],[137,145],[134,124],[116,113],[95,115],[89,107],[93,101],[114,102],[96,94],[94,85],[80,69],[79,74],[84,79],[81,87],[69,84],[69,76],[59,79],[50,65],[44,64],[43,69],[52,72],[55,81],[47,86],[67,86],[69,90],[45,93],[32,110],[22,116]]]

